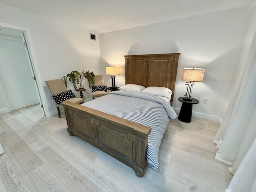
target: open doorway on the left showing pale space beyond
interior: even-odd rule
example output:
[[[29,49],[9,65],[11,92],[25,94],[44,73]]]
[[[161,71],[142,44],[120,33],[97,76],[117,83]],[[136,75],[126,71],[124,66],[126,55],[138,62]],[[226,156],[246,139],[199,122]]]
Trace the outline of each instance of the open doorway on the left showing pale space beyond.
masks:
[[[0,26],[0,113],[42,105],[30,52],[24,41],[24,31]]]

